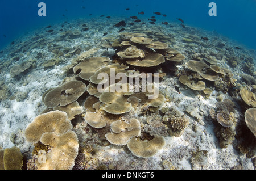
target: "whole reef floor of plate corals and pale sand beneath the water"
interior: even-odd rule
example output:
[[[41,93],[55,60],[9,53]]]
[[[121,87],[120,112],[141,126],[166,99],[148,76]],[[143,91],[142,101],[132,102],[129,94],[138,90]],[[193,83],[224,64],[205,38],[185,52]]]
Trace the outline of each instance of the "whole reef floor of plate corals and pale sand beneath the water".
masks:
[[[0,146],[19,148],[22,169],[254,170],[255,62],[255,50],[176,22],[52,24],[0,54]],[[158,73],[159,96],[99,92],[111,69]]]

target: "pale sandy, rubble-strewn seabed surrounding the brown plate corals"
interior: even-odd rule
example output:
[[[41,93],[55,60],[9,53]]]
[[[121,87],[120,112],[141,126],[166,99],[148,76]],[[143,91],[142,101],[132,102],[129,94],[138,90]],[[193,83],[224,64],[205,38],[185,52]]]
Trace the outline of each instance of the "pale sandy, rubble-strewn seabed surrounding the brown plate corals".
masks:
[[[88,52],[89,57],[106,56],[112,60],[115,55],[113,48],[101,47],[101,44],[110,39],[118,39],[118,31],[123,27],[114,27],[115,23],[131,19],[112,18],[102,19],[75,19],[67,23],[52,24],[51,28],[41,28],[27,33],[3,49],[0,54],[1,104],[0,104],[0,146],[3,149],[17,146],[23,157],[32,158],[34,146],[24,138],[24,130],[45,108],[42,95],[47,90],[57,87],[67,77],[74,77],[67,72],[66,67],[73,64],[80,54]],[[146,22],[147,20],[145,20]],[[86,26],[83,26],[86,24]],[[62,26],[64,25],[64,26]],[[88,27],[88,30],[84,30]],[[171,74],[166,72],[159,83],[159,90],[163,92],[166,102],[162,107],[170,108],[172,112],[179,112],[189,118],[189,124],[180,136],[166,135],[166,129],[154,125],[155,117],[162,120],[164,113],[160,108],[156,112],[147,111],[142,115],[133,115],[133,111],[125,113],[123,117],[129,119],[135,116],[141,124],[150,125],[142,128],[152,134],[164,135],[166,145],[153,157],[138,158],[133,155],[126,145],[118,146],[99,140],[97,132],[82,120],[76,117],[73,121],[73,131],[77,133],[79,141],[93,147],[93,153],[84,153],[81,150],[73,169],[97,169],[105,165],[107,169],[255,169],[255,137],[245,140],[241,134],[246,129],[244,113],[247,106],[239,95],[240,88],[228,87],[220,90],[211,84],[212,94],[204,95],[202,91],[189,89],[179,81],[179,75],[187,71],[185,62],[195,57],[213,57],[218,65],[229,69],[233,78],[240,85],[247,85],[255,92],[255,50],[219,35],[217,32],[208,32],[199,28],[170,22],[167,26],[162,23],[146,24],[135,23],[126,25],[126,32],[146,32],[148,36],[156,37],[156,33],[167,36],[164,40],[169,47],[178,50],[185,56],[181,64],[176,66]],[[46,32],[49,29],[53,32]],[[62,29],[62,31],[60,31]],[[61,38],[61,33],[71,31],[74,37]],[[105,32],[108,35],[102,36]],[[152,34],[151,34],[152,33]],[[208,41],[201,40],[201,36],[208,37]],[[233,59],[232,59],[233,57]],[[55,65],[46,68],[44,63],[52,58],[57,59]],[[202,58],[203,61],[204,58]],[[30,61],[29,69],[13,77],[10,69],[14,65],[21,65]],[[235,61],[235,62],[234,62]],[[254,62],[250,69],[245,62]],[[235,65],[236,64],[236,65]],[[172,71],[172,70],[170,70]],[[163,71],[164,72],[164,71]],[[180,94],[175,89],[179,87]],[[3,95],[4,94],[4,95]],[[216,128],[220,127],[209,110],[216,110],[216,103],[230,99],[235,104],[234,119],[236,121],[236,136],[234,140],[221,148]],[[153,122],[152,122],[153,121]],[[88,131],[89,130],[89,131]],[[215,130],[215,131],[214,131]],[[247,132],[250,132],[247,129]],[[87,135],[85,135],[87,134]],[[152,135],[151,135],[152,136]],[[81,144],[80,142],[80,144]],[[250,143],[248,143],[250,142]],[[247,145],[247,154],[241,151],[240,145]],[[82,145],[81,144],[81,145]],[[25,167],[26,168],[26,167]]]

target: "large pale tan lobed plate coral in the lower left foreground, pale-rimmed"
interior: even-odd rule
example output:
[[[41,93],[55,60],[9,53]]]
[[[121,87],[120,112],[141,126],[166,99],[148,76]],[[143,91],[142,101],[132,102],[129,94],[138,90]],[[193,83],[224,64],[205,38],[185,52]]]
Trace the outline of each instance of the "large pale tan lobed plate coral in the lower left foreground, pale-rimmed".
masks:
[[[78,154],[79,140],[71,131],[72,124],[67,113],[51,111],[35,118],[25,131],[26,140],[31,143],[49,145],[47,153],[39,150],[34,158],[35,169],[72,169]],[[31,161],[32,162],[32,161]],[[31,163],[30,163],[31,164]]]

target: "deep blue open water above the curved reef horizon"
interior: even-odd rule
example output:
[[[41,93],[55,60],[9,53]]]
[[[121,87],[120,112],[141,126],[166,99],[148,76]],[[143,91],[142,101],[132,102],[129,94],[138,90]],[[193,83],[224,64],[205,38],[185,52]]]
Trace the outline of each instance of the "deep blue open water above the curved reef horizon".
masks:
[[[46,3],[46,16],[38,16],[39,2]],[[209,16],[210,2],[216,3],[217,16]],[[130,10],[125,10],[128,7]],[[166,14],[167,17],[164,18],[166,21],[172,22],[176,18],[182,18],[188,26],[217,31],[247,48],[256,50],[255,10],[255,0],[2,0],[0,50],[27,32],[52,23],[63,22],[67,18],[95,18],[100,15],[129,17],[138,15],[139,11],[145,12],[143,15],[145,18],[152,16],[154,11]]]

